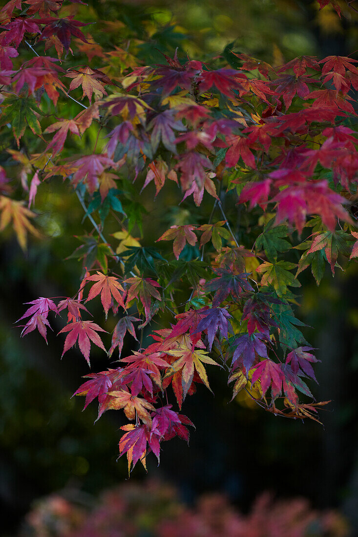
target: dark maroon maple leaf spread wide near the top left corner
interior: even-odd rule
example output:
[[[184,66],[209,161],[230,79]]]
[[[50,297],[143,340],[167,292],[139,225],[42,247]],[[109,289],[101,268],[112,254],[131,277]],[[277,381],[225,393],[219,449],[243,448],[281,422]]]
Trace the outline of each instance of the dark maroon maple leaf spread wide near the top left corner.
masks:
[[[78,30],[81,26],[87,26],[90,23],[80,23],[78,20],[74,20],[73,16],[64,18],[55,17],[42,17],[40,19],[31,19],[35,23],[44,24],[45,27],[41,30],[40,39],[51,38],[55,35],[66,52],[69,50],[71,35],[74,35],[84,43],[88,43],[81,30]]]

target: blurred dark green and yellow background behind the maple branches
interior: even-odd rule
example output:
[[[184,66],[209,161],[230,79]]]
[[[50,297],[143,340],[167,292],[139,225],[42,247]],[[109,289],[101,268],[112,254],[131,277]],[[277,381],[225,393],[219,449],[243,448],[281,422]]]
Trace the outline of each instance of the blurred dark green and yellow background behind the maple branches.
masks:
[[[357,14],[345,2],[341,6],[343,17],[339,19],[329,6],[318,11],[317,2],[299,0],[89,0],[88,6],[72,4],[63,14],[66,9],[68,14],[76,10],[78,20],[95,20],[96,24],[88,26],[95,40],[106,50],[118,47],[117,52],[122,51],[109,62],[108,72],[115,77],[116,72],[131,67],[131,62],[134,67],[135,57],[144,64],[163,63],[161,53],[173,56],[176,48],[190,59],[205,61],[218,56],[218,62],[219,56],[233,61],[233,49],[274,65],[302,54],[347,55],[357,48]],[[87,63],[85,55],[83,63]],[[74,117],[78,106],[66,101],[66,113]],[[73,140],[77,152],[93,147],[95,136],[95,128],[88,129],[82,140]],[[98,143],[101,150],[105,141],[99,139]],[[13,177],[16,173],[14,169]],[[166,187],[156,202],[153,191],[145,191],[141,203],[146,213],[141,215],[135,188],[130,184],[126,188],[133,189],[134,202],[125,206],[124,200],[124,208],[138,212],[132,235],[140,240],[142,218],[148,244],[192,211],[184,202],[168,214],[166,207],[175,198],[174,191]],[[90,405],[82,413],[82,398],[70,398],[81,375],[89,372],[82,357],[72,350],[60,362],[61,336],[51,334],[46,347],[34,333],[20,339],[19,329],[13,326],[23,314],[23,302],[37,296],[73,295],[81,275],[81,263],[76,255],[71,256],[81,244],[76,236],[92,231],[77,198],[59,179],[42,184],[36,212],[43,237],[31,242],[26,255],[10,233],[0,238],[0,501],[6,514],[3,520],[7,520],[4,534],[16,531],[34,498],[74,488],[96,495],[126,476],[126,461],[116,461],[119,413],[107,412],[94,426],[96,408]],[[207,212],[205,206],[202,212]],[[195,212],[191,214],[195,223]],[[112,219],[105,235],[118,231],[120,221]],[[240,231],[245,236],[245,228]],[[356,287],[353,268],[345,278],[338,273],[333,279],[327,272],[319,288],[309,273],[303,281],[300,316],[314,327],[307,328],[305,335],[318,347],[317,356],[322,360],[317,367],[320,387],[316,393],[320,400],[333,400],[322,413],[324,427],[267,415],[243,395],[228,405],[230,390],[222,379],[213,377],[215,398],[199,389],[184,405],[184,413],[197,427],[190,447],[177,439],[164,445],[160,467],[148,461],[149,473],[175,483],[181,498],[189,503],[203,492],[224,491],[245,511],[258,494],[270,489],[281,498],[307,497],[317,508],[339,507],[350,524],[358,527]],[[99,315],[95,306],[91,311],[95,317]],[[56,322],[58,331],[62,324]],[[134,340],[128,340],[124,351],[133,344]],[[103,353],[96,354],[94,349],[92,370],[109,366]],[[144,470],[137,467],[131,479],[143,477]]]

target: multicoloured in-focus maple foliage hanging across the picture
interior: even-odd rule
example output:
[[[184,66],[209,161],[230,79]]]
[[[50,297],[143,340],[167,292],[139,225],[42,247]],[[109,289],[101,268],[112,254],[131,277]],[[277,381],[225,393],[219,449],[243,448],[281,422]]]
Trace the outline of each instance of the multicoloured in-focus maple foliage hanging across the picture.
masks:
[[[120,360],[89,373],[75,395],[85,407],[97,399],[98,417],[124,411],[131,423],[119,452],[129,469],[150,452],[159,461],[164,440],[189,439],[182,405],[201,384],[211,390],[213,375],[226,376],[232,398],[246,390],[275,415],[318,420],[325,402],[311,393],[317,358],[295,292],[304,270],[319,285],[327,266],[334,274],[358,256],[357,60],[271,66],[231,50],[211,63],[175,53],[146,64],[135,39],[123,49],[96,43],[75,18],[81,4],[11,0],[0,11],[0,126],[12,144],[0,169],[0,229],[12,227],[23,250],[29,234],[41,240],[36,195],[59,179],[92,225],[74,252],[76,293],[31,301],[22,335],[37,329],[47,343],[65,313],[62,355],[78,344],[90,364],[94,344],[112,366]],[[76,153],[94,130],[94,146]],[[177,209],[148,245],[138,199],[162,189],[191,212]],[[110,242],[111,219],[120,230]],[[118,319],[108,351],[92,300],[105,320]],[[123,355],[127,332],[138,344]]]

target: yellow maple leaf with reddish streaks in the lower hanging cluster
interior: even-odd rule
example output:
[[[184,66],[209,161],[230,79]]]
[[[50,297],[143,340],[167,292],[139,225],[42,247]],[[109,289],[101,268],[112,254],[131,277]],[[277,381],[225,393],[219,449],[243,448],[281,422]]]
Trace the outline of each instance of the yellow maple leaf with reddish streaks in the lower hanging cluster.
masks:
[[[168,366],[168,369],[164,374],[164,379],[167,376],[173,374],[173,372],[181,370],[183,399],[185,399],[185,397],[187,396],[188,390],[191,386],[191,382],[194,377],[194,368],[201,380],[204,382],[205,386],[212,392],[209,386],[209,380],[207,380],[207,375],[203,363],[214,366],[218,366],[219,364],[209,358],[209,356],[207,356],[206,351],[195,349],[194,346],[185,346],[182,348],[178,348],[174,351],[167,351],[167,354],[175,357],[180,357],[173,364]]]

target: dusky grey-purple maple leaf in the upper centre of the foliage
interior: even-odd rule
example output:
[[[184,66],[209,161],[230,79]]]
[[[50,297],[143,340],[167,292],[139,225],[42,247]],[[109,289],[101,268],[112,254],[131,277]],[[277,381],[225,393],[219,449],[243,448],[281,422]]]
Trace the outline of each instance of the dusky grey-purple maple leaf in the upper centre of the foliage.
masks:
[[[182,121],[175,120],[172,110],[164,110],[164,112],[157,114],[149,122],[148,129],[153,129],[151,134],[153,153],[158,149],[160,141],[168,151],[176,153],[174,130],[187,130]]]

